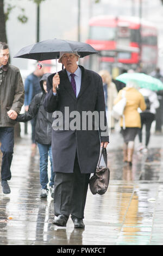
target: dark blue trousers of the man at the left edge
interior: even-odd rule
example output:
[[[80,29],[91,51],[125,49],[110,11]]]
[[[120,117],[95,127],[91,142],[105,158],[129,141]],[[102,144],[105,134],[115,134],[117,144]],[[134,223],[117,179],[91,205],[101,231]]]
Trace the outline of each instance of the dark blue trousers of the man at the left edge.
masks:
[[[2,156],[1,180],[11,179],[11,162],[14,149],[14,127],[0,127]]]

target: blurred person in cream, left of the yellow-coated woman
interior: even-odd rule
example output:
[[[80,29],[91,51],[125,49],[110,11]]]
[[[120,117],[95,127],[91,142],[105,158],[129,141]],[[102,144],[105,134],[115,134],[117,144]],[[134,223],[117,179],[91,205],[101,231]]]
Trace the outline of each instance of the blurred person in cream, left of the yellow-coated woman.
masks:
[[[114,106],[114,100],[118,94],[116,85],[112,82],[111,75],[108,70],[100,70],[98,74],[102,77],[106,111],[108,111],[110,117],[110,119],[108,119],[109,127],[113,131],[115,129],[115,119],[111,116],[111,111],[112,107]]]

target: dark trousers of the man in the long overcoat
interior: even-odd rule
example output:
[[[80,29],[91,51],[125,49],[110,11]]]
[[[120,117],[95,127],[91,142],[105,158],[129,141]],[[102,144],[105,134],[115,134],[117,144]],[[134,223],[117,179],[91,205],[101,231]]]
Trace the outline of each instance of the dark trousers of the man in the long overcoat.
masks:
[[[70,214],[84,218],[87,188],[90,174],[81,174],[78,159],[74,161],[73,173],[55,173],[54,214]]]

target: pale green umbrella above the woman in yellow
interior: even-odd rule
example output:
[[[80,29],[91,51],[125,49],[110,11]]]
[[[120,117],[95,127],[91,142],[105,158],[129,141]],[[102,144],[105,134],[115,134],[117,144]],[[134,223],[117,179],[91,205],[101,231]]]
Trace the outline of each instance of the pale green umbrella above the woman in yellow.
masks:
[[[147,88],[150,90],[163,90],[163,83],[159,79],[143,73],[124,73],[120,76],[117,76],[116,80],[123,83],[132,81],[137,84],[137,87]]]

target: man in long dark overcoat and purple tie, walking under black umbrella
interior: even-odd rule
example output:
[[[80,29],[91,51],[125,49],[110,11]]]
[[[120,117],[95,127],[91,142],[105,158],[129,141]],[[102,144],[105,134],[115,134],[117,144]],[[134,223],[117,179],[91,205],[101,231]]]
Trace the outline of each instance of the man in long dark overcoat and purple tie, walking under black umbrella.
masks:
[[[100,143],[106,147],[109,135],[102,78],[78,65],[78,58],[77,52],[60,52],[59,62],[65,69],[48,77],[44,107],[47,112],[55,111],[53,224],[65,227],[71,215],[74,227],[84,228],[90,174],[96,170]]]

